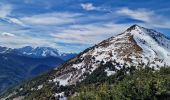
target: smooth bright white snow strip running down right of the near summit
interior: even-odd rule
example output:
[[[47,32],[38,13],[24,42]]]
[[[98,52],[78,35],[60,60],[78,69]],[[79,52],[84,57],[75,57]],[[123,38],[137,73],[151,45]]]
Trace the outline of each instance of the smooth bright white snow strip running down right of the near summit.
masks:
[[[161,62],[163,60],[165,64],[170,65],[170,51],[155,41],[150,36],[149,31],[136,27],[135,30],[131,31],[131,34],[133,34],[135,41],[143,49],[143,55],[148,57],[150,61],[159,60]],[[164,66],[164,63],[159,63],[159,65]]]

